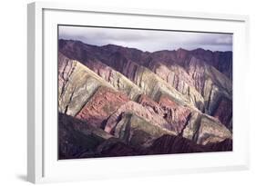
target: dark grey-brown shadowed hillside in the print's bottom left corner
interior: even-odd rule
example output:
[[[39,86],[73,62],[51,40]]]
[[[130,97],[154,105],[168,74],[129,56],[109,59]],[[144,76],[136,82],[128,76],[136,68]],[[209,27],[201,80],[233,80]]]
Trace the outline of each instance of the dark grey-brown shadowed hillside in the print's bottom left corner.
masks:
[[[79,158],[81,154],[94,154],[95,148],[112,136],[96,127],[64,113],[58,114],[59,159]]]

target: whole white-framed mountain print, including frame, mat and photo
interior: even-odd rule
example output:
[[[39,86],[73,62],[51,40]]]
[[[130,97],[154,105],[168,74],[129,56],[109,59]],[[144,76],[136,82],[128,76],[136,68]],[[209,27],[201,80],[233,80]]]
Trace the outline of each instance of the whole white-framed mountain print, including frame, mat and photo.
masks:
[[[247,26],[28,5],[28,181],[247,169]]]

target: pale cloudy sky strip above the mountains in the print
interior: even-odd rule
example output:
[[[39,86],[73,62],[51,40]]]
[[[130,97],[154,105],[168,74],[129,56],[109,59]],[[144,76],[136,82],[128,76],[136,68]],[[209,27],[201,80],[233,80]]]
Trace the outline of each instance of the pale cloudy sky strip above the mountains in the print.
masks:
[[[59,26],[59,39],[79,40],[86,44],[117,44],[142,51],[193,50],[232,51],[232,34],[210,34],[137,29]]]

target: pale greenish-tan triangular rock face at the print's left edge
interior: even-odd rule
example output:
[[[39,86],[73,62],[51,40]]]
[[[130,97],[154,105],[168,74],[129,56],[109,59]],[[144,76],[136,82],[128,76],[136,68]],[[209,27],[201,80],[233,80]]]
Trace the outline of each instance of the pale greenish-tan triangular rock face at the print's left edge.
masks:
[[[99,86],[111,87],[87,66],[59,54],[58,107],[61,113],[75,116],[96,93]],[[63,74],[63,75],[60,75]]]

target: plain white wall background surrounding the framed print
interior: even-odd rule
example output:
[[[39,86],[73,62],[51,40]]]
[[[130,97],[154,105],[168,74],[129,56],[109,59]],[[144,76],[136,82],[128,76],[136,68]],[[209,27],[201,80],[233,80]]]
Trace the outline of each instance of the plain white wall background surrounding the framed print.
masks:
[[[26,4],[27,0],[1,1],[0,11],[0,185],[26,182]],[[76,0],[72,0],[76,2]],[[256,5],[253,0],[84,0],[90,5],[170,9],[250,15],[251,170],[170,175],[124,180],[61,183],[60,185],[255,185],[256,183]],[[245,62],[247,65],[247,62]],[[243,109],[243,108],[241,108]],[[255,122],[255,123],[254,123]],[[136,169],[136,168],[135,168]],[[108,170],[107,170],[108,171]]]

